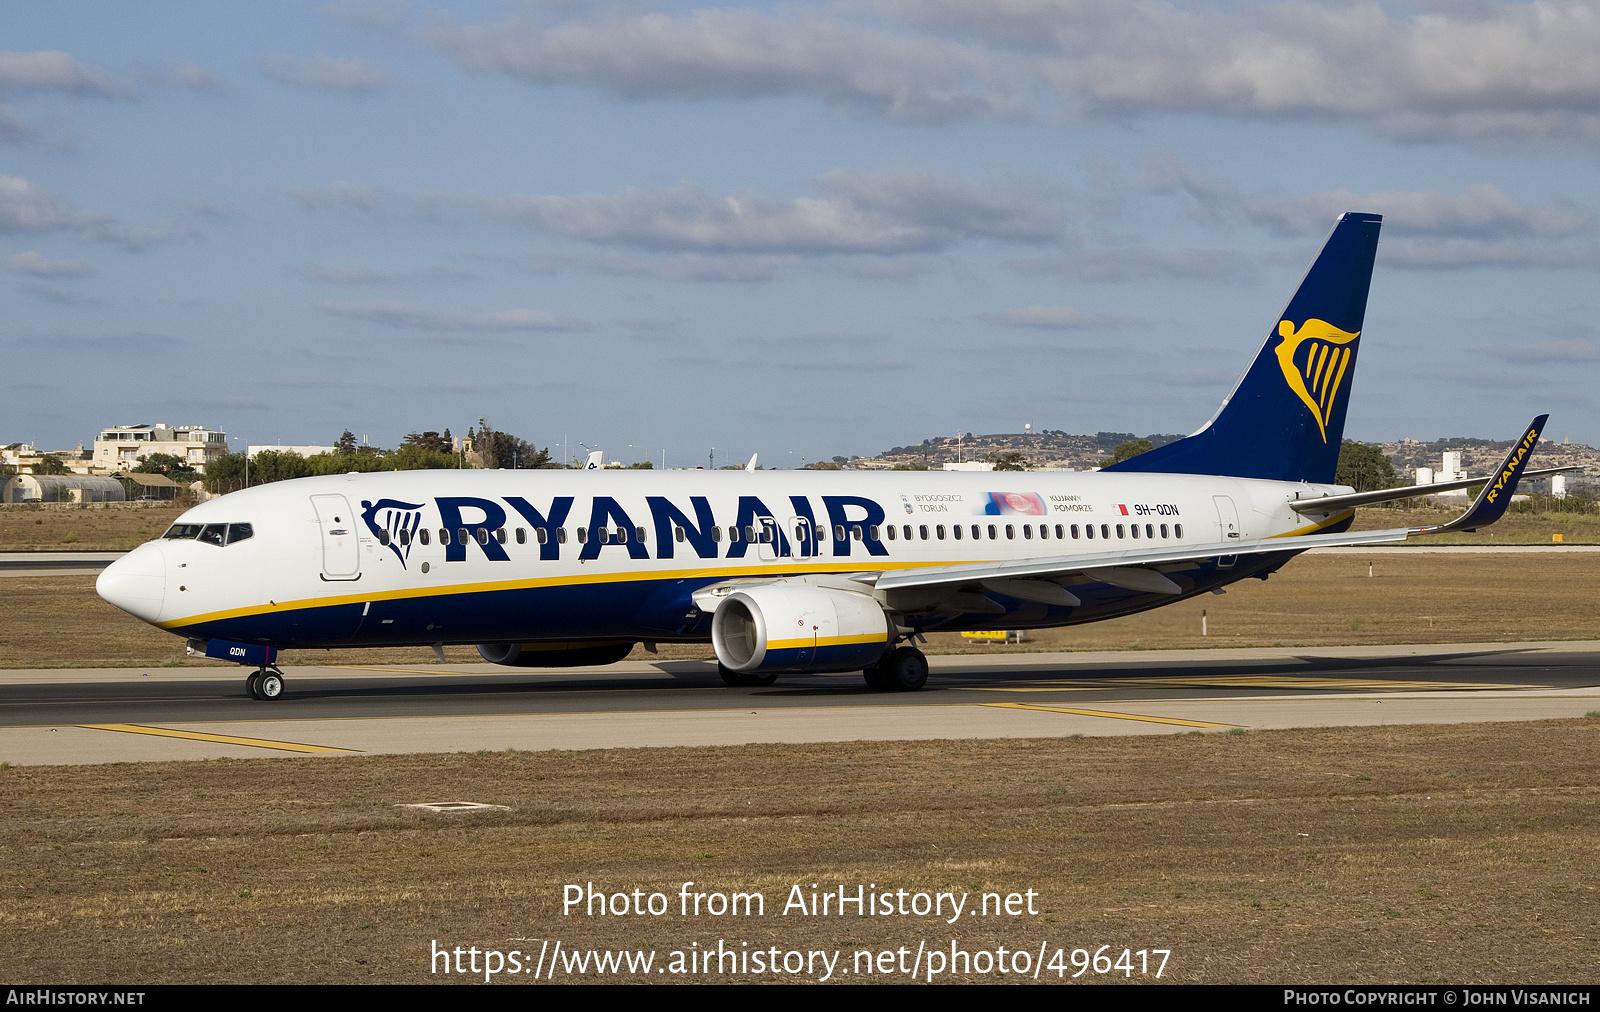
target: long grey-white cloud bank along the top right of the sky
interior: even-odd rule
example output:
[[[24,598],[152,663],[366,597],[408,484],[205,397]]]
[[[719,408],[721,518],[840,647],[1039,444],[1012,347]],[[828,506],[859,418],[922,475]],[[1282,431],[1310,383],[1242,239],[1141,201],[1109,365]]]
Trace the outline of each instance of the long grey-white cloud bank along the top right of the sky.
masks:
[[[1592,0],[1418,11],[1360,0],[845,0],[541,14],[446,21],[419,37],[475,72],[626,98],[811,94],[914,120],[1331,117],[1406,139],[1600,143]]]

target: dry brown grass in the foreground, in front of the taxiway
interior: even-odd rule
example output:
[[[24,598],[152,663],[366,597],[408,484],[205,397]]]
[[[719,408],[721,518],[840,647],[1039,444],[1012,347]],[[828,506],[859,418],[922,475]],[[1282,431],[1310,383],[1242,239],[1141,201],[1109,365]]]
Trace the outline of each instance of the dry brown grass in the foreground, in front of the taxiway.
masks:
[[[1597,778],[1594,719],[0,769],[0,951],[18,985],[442,982],[432,940],[526,938],[846,964],[1043,940],[1170,948],[1165,978],[1190,983],[1581,982]],[[509,810],[395,807],[442,799]],[[563,916],[562,886],[590,881],[754,889],[768,916]],[[1035,889],[1040,914],[779,916],[811,882]]]

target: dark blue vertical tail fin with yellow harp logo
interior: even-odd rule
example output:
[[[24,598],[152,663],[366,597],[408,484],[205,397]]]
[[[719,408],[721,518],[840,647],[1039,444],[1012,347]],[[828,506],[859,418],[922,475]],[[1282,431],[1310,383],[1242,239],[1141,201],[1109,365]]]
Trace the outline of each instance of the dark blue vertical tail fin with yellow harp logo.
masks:
[[[1331,482],[1381,215],[1339,216],[1256,360],[1203,429],[1106,471]]]

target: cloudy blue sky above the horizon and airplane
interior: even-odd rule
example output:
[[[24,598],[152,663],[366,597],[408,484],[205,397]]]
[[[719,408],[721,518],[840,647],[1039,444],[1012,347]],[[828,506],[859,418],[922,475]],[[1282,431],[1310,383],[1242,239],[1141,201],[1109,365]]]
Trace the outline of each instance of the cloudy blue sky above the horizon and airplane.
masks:
[[[0,442],[1187,432],[1386,216],[1347,436],[1600,444],[1600,3],[0,3]]]

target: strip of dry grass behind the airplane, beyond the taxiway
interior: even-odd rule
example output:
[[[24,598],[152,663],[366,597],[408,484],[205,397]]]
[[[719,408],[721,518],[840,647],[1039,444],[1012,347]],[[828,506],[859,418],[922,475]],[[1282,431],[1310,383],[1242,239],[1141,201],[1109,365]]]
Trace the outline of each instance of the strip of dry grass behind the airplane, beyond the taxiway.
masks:
[[[1373,576],[1368,576],[1368,562]],[[1066,629],[1038,629],[1021,647],[930,636],[950,652],[1282,647],[1333,644],[1506,642],[1600,639],[1600,562],[1589,554],[1302,556],[1267,581],[1245,580],[1144,615]],[[93,576],[0,580],[6,621],[0,668],[211,665],[186,661],[181,639],[117,612],[94,596]],[[1200,636],[1200,612],[1210,636]],[[477,661],[448,647],[451,661]],[[709,645],[662,644],[658,655],[710,657]],[[430,665],[426,647],[298,650],[288,663]]]

